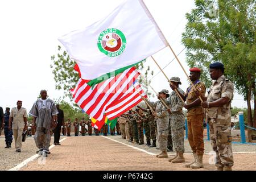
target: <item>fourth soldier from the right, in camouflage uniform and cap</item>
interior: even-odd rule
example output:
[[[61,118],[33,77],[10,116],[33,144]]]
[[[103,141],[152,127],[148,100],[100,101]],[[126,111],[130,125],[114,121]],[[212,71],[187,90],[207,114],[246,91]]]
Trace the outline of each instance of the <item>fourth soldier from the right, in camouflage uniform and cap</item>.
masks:
[[[168,105],[167,98],[170,96],[169,91],[166,89],[159,92],[159,98],[162,98],[164,102]],[[158,143],[159,148],[162,151],[159,155],[156,155],[157,158],[168,158],[167,154],[167,138],[168,138],[168,123],[169,123],[169,113],[166,106],[162,101],[157,102],[155,109],[155,117],[157,118],[156,122],[158,125]]]

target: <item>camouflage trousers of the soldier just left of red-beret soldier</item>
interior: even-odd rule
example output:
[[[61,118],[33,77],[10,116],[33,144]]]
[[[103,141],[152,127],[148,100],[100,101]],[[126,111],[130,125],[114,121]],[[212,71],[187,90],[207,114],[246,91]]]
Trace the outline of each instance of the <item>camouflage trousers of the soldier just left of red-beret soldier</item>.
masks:
[[[172,144],[176,152],[184,153],[184,127],[180,127],[181,125],[177,125],[177,123],[184,123],[185,118],[184,121],[181,121],[180,119],[181,118],[171,119]]]

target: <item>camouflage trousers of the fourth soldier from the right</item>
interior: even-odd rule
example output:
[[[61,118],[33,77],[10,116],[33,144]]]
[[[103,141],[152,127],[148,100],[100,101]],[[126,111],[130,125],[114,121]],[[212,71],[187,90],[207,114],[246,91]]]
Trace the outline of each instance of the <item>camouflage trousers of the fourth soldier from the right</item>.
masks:
[[[156,120],[158,126],[158,143],[161,151],[167,151],[168,124],[169,118],[158,118]]]

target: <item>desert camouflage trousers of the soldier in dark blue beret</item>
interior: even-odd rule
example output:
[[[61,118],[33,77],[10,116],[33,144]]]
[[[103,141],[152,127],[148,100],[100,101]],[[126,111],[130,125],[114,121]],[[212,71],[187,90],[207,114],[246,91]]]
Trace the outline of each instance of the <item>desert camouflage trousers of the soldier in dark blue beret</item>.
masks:
[[[209,121],[209,120],[208,120]],[[216,166],[233,166],[232,135],[230,125],[222,125],[209,121],[210,143],[216,152]]]

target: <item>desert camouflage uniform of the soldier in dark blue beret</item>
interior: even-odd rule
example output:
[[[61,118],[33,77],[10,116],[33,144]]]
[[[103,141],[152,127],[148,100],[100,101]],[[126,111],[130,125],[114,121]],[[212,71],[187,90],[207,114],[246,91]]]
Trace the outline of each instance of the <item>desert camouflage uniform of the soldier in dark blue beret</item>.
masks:
[[[208,92],[207,102],[219,98],[229,98],[228,104],[207,109],[207,119],[210,127],[210,140],[216,152],[216,166],[233,166],[232,135],[230,131],[230,104],[233,98],[234,85],[222,75],[214,81]]]

